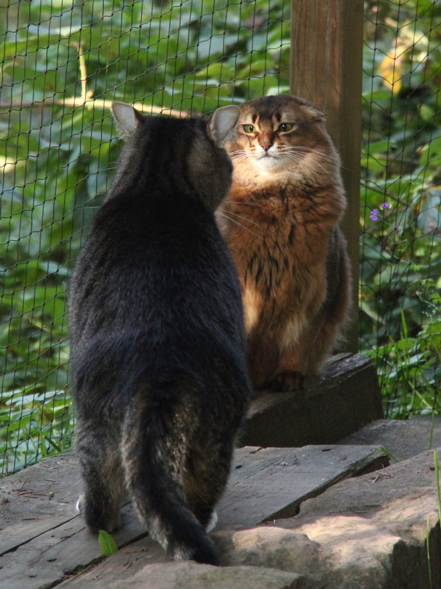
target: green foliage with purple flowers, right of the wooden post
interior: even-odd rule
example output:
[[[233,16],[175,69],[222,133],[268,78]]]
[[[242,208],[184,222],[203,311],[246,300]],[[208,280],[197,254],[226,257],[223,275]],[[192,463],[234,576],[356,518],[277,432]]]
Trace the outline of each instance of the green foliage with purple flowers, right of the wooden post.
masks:
[[[361,350],[404,418],[440,410],[441,6],[372,1],[366,17]]]

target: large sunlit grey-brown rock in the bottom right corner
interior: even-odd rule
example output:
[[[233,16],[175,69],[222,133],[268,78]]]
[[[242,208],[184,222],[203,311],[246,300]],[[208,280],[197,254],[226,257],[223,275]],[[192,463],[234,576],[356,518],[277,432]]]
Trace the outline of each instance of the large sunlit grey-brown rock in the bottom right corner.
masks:
[[[297,572],[308,589],[438,589],[438,521],[429,451],[340,482],[304,502],[295,518],[215,538],[226,563]]]

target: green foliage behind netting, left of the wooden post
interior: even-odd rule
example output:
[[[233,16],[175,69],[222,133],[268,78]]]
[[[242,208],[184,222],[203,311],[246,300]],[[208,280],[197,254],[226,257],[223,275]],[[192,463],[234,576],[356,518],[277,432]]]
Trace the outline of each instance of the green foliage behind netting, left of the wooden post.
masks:
[[[0,473],[71,444],[66,291],[117,157],[105,100],[202,113],[286,90],[288,10],[288,0],[8,3]]]

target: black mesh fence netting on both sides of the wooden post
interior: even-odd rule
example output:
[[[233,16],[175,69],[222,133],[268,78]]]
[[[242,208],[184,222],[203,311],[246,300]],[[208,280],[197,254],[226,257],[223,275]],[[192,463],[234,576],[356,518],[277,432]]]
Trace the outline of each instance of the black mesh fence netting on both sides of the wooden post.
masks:
[[[0,0],[2,474],[71,446],[66,290],[114,173],[110,103],[180,116],[288,92],[290,5]],[[361,349],[397,415],[438,408],[440,17],[365,2]]]

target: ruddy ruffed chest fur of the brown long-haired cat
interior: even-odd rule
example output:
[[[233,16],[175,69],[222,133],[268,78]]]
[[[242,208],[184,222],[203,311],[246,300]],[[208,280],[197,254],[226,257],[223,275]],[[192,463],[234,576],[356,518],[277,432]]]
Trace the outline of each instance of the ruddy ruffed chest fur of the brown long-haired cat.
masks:
[[[312,187],[298,182],[264,191],[233,183],[227,201],[222,210],[232,213],[233,222],[224,218],[222,225],[242,282],[247,332],[259,321],[274,328],[288,313],[309,315],[325,296],[324,289],[317,296],[318,283],[344,203],[329,209]],[[318,215],[320,206],[329,210]],[[239,214],[241,226],[234,222]]]

